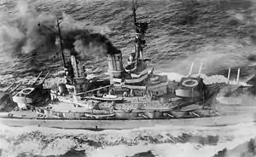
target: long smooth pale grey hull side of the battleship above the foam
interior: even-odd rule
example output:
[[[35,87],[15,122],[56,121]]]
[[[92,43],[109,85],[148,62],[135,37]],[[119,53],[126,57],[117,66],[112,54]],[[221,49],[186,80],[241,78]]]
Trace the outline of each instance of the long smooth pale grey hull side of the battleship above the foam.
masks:
[[[237,125],[241,123],[256,122],[256,113],[240,115],[226,115],[209,118],[193,119],[140,119],[140,120],[99,120],[99,119],[18,119],[0,118],[0,124],[15,127],[38,126],[61,129],[83,129],[83,130],[125,130],[154,126],[179,125],[179,126],[223,126]]]

